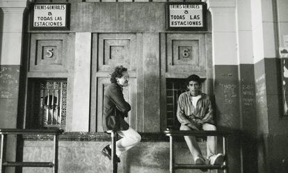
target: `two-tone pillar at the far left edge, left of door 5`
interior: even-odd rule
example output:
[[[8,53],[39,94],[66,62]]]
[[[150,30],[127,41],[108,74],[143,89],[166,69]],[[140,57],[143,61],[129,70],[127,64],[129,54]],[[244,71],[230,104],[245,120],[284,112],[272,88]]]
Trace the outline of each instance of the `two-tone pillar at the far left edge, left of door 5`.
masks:
[[[26,0],[0,1],[0,128],[17,128],[22,20]],[[16,136],[7,139],[6,160],[15,161]],[[14,172],[8,167],[6,172]]]

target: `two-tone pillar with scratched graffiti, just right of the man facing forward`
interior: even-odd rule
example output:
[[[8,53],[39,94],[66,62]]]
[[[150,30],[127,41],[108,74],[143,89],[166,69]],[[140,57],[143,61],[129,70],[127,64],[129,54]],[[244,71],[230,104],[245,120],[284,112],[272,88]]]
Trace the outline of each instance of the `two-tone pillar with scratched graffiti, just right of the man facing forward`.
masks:
[[[212,19],[212,56],[216,120],[219,130],[240,130],[239,58],[237,54],[236,1],[209,0]],[[229,172],[241,172],[239,136],[228,141]],[[218,141],[218,149],[221,149]]]

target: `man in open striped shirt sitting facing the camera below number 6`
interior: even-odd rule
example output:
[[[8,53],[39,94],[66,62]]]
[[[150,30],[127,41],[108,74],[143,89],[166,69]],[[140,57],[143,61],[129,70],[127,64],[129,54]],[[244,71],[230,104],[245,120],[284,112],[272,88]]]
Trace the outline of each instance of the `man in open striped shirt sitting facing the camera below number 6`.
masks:
[[[177,105],[177,119],[181,123],[180,130],[216,130],[213,119],[211,100],[207,94],[201,92],[202,81],[198,75],[190,75],[186,79],[189,91],[179,96]],[[205,165],[196,138],[184,137],[194,158],[195,165]],[[216,137],[207,137],[207,159],[211,165],[222,165],[224,156],[216,154]],[[202,171],[207,171],[203,170]]]

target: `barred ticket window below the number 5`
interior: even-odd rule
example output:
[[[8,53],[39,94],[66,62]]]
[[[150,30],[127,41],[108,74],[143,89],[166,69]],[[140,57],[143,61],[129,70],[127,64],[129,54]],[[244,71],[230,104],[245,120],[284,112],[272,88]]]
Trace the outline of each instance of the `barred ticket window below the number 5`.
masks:
[[[32,100],[26,128],[63,128],[66,125],[67,81],[29,80]]]

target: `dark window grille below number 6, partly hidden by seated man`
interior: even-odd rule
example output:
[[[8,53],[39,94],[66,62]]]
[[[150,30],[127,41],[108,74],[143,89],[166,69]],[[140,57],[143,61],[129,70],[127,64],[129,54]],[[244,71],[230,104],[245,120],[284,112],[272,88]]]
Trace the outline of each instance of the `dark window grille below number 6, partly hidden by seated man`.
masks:
[[[184,79],[166,79],[167,128],[179,130],[180,123],[177,120],[177,103],[179,95],[184,91],[186,91]]]

